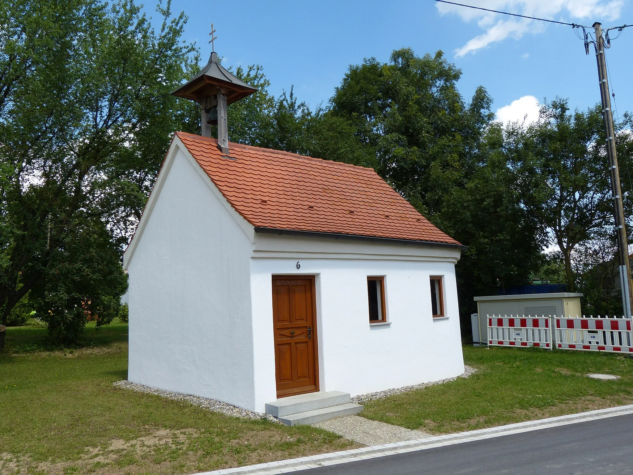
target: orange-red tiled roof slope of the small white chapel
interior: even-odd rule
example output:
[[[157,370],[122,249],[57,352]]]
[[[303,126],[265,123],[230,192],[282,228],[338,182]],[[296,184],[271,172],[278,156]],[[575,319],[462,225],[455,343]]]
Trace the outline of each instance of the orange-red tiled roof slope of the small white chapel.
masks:
[[[459,244],[372,168],[177,132],[229,203],[254,227]]]

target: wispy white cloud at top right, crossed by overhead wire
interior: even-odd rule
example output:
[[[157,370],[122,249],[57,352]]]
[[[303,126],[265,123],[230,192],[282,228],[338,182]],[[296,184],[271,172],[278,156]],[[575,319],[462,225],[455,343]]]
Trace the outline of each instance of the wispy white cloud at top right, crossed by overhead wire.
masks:
[[[468,4],[519,15],[536,16],[547,20],[576,23],[600,17],[615,20],[620,16],[624,0],[470,0]],[[441,15],[458,15],[464,22],[477,21],[484,33],[456,49],[456,56],[475,53],[494,42],[507,38],[520,39],[527,32],[538,33],[546,23],[491,13],[463,6],[437,3]]]

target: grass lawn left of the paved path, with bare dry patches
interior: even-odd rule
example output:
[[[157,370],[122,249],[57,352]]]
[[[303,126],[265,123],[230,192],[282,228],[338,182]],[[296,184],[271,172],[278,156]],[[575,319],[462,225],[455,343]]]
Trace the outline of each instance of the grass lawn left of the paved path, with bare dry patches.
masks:
[[[0,473],[192,473],[351,447],[327,431],[227,417],[113,387],[127,325],[87,328],[89,348],[0,354]],[[9,327],[8,349],[42,330]],[[6,455],[9,454],[9,455]]]

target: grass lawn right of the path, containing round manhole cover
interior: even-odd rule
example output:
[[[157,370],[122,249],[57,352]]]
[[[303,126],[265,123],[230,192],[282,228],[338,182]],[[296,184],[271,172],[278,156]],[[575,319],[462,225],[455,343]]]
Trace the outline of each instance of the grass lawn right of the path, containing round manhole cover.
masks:
[[[368,419],[432,433],[480,429],[633,402],[633,360],[538,348],[464,346],[468,378],[365,405]],[[622,376],[597,381],[587,373]]]

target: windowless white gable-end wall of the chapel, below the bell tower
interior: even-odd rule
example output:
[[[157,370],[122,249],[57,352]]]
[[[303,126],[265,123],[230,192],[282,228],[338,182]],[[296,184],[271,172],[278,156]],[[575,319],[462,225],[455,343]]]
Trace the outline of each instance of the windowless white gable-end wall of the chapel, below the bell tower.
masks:
[[[128,378],[253,409],[253,243],[199,167],[170,154],[127,256]]]

